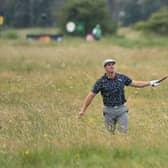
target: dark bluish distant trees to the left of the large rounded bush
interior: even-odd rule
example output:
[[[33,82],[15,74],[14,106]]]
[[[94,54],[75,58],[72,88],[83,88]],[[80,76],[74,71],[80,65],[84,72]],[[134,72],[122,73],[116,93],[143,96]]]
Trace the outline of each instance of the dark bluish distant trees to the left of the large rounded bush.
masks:
[[[59,3],[60,2],[60,3]],[[55,24],[55,10],[61,0],[0,0],[5,23],[14,27],[50,26]]]

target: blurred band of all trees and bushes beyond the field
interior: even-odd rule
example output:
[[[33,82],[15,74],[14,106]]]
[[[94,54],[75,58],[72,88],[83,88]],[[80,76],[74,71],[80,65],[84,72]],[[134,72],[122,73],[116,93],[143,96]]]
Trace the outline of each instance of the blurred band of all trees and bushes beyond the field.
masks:
[[[103,34],[128,26],[168,34],[167,6],[167,0],[0,0],[0,26],[57,27],[64,32],[73,21],[82,29],[78,35],[90,33],[96,24]]]

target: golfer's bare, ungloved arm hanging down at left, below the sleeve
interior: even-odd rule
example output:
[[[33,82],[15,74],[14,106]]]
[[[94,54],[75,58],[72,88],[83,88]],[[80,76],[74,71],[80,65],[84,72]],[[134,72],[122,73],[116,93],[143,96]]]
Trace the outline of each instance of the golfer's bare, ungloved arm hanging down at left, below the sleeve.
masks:
[[[93,93],[93,92],[90,92],[90,93],[87,95],[87,97],[86,97],[86,99],[85,99],[85,101],[84,101],[83,107],[82,107],[81,111],[79,112],[79,116],[80,116],[80,117],[84,115],[84,113],[86,112],[87,107],[90,105],[90,103],[92,102],[92,100],[93,100],[93,98],[94,98],[95,96],[96,96],[96,94]]]

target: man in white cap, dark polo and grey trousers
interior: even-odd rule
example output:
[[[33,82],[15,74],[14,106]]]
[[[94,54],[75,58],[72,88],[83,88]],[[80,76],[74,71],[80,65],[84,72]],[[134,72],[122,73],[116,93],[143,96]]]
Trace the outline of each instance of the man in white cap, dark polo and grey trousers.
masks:
[[[116,125],[120,133],[127,133],[128,129],[128,108],[126,106],[126,98],[124,87],[132,86],[143,88],[147,86],[158,86],[159,80],[152,81],[135,81],[128,76],[117,73],[115,71],[116,61],[114,59],[106,59],[103,62],[105,74],[99,78],[94,84],[92,90],[88,94],[79,113],[82,117],[87,107],[92,102],[97,93],[101,92],[103,98],[103,115],[106,128],[115,133]]]

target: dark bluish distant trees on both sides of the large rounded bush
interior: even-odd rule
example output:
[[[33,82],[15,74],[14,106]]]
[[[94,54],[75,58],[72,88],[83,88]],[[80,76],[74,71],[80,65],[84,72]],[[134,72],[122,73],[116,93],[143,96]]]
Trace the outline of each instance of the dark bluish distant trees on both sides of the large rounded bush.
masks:
[[[76,0],[76,3],[85,1],[87,0]],[[111,19],[123,26],[146,20],[152,13],[163,6],[168,6],[167,0],[102,0],[102,2],[106,4]],[[5,25],[9,27],[53,26],[62,21],[60,11],[67,3],[74,3],[74,0],[0,0],[0,15],[4,15]],[[102,12],[101,7],[98,7],[97,10]],[[90,12],[94,14],[94,11]]]

